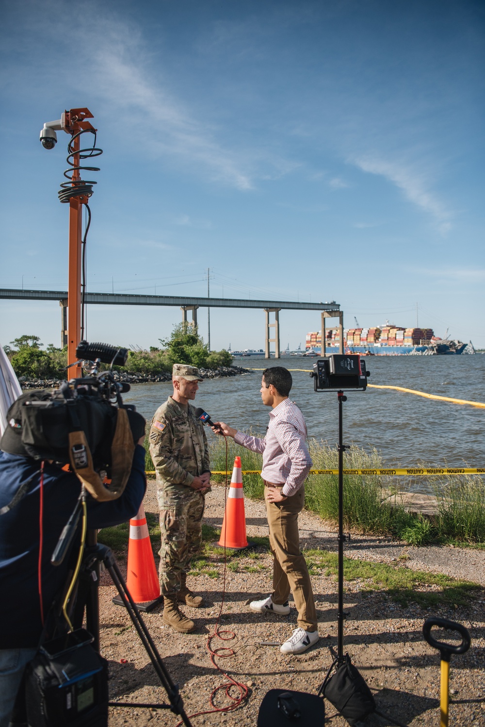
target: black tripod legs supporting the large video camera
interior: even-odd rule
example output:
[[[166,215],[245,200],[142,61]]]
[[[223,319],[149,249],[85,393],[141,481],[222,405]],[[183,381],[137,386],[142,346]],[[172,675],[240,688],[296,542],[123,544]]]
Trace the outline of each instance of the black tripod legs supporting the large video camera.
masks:
[[[142,616],[136,607],[136,603],[126,588],[126,582],[121,575],[121,571],[116,563],[115,556],[109,547],[100,545],[97,542],[97,532],[88,531],[87,545],[84,551],[83,563],[78,581],[78,593],[76,598],[76,606],[73,611],[74,627],[81,627],[83,623],[83,611],[86,606],[86,629],[94,637],[94,648],[99,651],[99,572],[100,564],[103,563],[105,569],[113,579],[123,606],[125,606],[133,623],[137,634],[144,646],[145,651],[150,657],[153,668],[160,679],[160,683],[165,689],[170,704],[139,704],[134,702],[110,702],[114,707],[155,707],[158,709],[167,709],[180,715],[182,722],[187,727],[191,727],[189,718],[184,711],[184,703],[179,693],[179,688],[171,679],[171,676],[163,664],[162,658],[158,653],[158,649],[144,623]]]

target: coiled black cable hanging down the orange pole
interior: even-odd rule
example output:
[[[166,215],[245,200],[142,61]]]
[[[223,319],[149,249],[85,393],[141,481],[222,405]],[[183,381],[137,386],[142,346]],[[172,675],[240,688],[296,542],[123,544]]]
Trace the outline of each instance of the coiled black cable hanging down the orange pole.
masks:
[[[76,151],[73,146],[74,141],[78,137],[80,137],[81,134],[86,134],[86,132],[94,134],[94,142],[92,147],[90,149],[79,149],[78,151]],[[79,155],[80,160],[91,158],[94,156],[101,156],[102,149],[99,149],[96,146],[96,132],[93,129],[81,129],[80,132],[77,132],[77,134],[73,134],[73,136],[70,138],[70,142],[68,143],[68,156],[66,158],[66,161],[70,166],[64,172],[64,176],[66,177],[68,182],[62,182],[62,184],[60,185],[61,188],[58,192],[59,201],[63,204],[69,202],[75,197],[91,197],[94,191],[93,185],[97,184],[97,182],[94,182],[92,180],[83,181],[81,179],[73,180],[71,178],[73,172],[81,173],[81,170],[85,172],[99,172],[99,166],[85,166],[81,164],[78,164],[78,166],[76,166],[76,164],[73,163],[73,158],[76,156],[76,154]],[[81,340],[83,340],[84,338],[84,328],[86,320],[86,238],[88,236],[89,226],[91,225],[91,210],[89,209],[89,204],[87,204],[87,202],[85,202],[84,204],[86,206],[86,222],[84,227],[83,239],[81,241]]]

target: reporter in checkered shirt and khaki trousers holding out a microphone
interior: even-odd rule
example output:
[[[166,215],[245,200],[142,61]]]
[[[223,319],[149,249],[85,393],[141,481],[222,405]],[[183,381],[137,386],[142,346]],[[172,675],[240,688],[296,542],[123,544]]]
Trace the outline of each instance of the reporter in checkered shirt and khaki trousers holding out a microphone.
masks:
[[[305,502],[305,480],[311,468],[306,447],[306,424],[296,403],[288,395],[293,384],[290,371],[282,366],[265,369],[261,399],[271,406],[266,436],[261,439],[216,422],[215,433],[234,438],[246,449],[263,454],[261,478],[269,525],[269,545],[273,553],[273,593],[263,601],[252,601],[253,611],[290,613],[290,591],[298,611],[298,628],[282,644],[285,654],[301,654],[317,642],[317,612],[308,568],[300,550],[298,513]]]

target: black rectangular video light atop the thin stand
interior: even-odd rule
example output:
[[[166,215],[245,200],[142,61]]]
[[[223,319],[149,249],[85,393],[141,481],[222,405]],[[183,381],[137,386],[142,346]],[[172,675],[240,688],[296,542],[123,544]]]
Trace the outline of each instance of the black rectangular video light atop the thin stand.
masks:
[[[332,356],[315,361],[310,376],[313,377],[315,391],[365,391],[370,372],[358,354],[333,353]]]

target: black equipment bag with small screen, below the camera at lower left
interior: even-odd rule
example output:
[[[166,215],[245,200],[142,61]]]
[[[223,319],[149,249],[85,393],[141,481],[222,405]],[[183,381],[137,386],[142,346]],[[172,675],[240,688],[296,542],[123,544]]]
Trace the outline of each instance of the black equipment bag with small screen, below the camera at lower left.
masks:
[[[28,664],[29,727],[107,727],[107,661],[84,629],[44,643]]]

